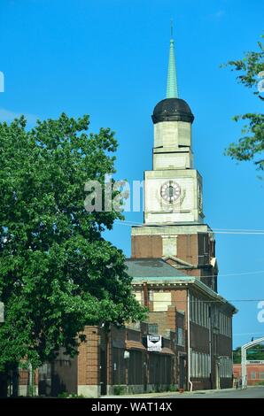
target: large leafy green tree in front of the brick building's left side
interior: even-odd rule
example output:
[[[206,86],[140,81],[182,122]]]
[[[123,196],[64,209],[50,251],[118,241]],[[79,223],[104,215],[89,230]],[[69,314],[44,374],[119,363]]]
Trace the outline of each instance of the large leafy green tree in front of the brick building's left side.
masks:
[[[121,325],[144,311],[131,293],[121,250],[105,241],[120,212],[87,212],[84,184],[114,173],[109,128],[89,117],[0,124],[0,369],[35,368],[63,347],[76,351],[85,325]]]

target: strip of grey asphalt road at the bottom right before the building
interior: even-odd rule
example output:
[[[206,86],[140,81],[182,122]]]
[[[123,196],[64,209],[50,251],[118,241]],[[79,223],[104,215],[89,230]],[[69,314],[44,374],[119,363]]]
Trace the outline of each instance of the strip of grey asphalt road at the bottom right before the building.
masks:
[[[164,396],[162,398],[167,397]],[[170,398],[264,398],[264,386],[251,387],[245,390],[223,389],[218,391],[210,390],[208,392],[182,393],[181,395],[170,396]]]

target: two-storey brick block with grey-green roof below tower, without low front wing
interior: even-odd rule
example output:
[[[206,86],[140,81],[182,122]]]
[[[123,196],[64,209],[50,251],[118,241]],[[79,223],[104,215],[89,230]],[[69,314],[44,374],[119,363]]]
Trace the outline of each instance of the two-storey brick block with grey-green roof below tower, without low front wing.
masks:
[[[136,298],[149,308],[148,322],[159,335],[175,333],[177,387],[231,387],[234,306],[162,258],[131,258],[127,265]]]

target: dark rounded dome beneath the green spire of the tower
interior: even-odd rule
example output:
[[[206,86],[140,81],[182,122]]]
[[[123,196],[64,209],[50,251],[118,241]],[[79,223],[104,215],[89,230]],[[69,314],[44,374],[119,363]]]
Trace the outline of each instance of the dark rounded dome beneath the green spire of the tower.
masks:
[[[165,98],[155,106],[151,118],[154,124],[160,121],[187,121],[192,123],[194,115],[190,106],[181,98]]]

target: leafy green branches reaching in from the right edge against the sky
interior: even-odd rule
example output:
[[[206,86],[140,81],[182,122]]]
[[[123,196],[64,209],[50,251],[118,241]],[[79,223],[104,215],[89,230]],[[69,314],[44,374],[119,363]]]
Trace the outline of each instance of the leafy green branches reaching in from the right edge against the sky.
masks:
[[[262,35],[261,37],[264,37]],[[229,61],[232,71],[238,71],[237,81],[245,88],[253,89],[253,94],[264,101],[264,43],[258,42],[258,51],[245,53],[245,57]],[[226,155],[238,161],[252,160],[258,169],[264,169],[264,114],[248,112],[236,115],[235,121],[246,121],[242,137],[238,143],[230,143]]]

